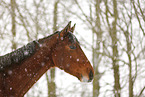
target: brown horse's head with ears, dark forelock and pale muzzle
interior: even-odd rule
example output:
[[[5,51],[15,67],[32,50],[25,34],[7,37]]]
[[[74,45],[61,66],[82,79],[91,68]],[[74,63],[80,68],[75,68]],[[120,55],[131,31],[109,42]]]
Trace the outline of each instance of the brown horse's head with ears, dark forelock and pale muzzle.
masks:
[[[59,41],[53,49],[52,60],[56,67],[76,76],[82,82],[90,82],[94,70],[82,51],[77,38],[73,35],[75,25],[71,22],[59,32]]]

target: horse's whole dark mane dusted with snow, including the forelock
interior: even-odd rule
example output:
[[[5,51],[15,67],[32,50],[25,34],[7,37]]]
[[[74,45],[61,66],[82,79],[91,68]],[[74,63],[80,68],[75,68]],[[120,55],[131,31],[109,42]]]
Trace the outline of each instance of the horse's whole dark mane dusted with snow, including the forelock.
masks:
[[[44,37],[40,39],[40,44],[43,43],[43,40],[50,38],[54,34],[60,34],[59,31],[56,31],[52,35],[49,35],[47,37]],[[70,32],[68,33],[69,41],[74,42],[76,41],[76,37]],[[78,40],[77,40],[78,42]],[[32,54],[35,53],[36,51],[36,45],[39,47],[39,42],[38,41],[32,41],[28,43],[27,45],[11,52],[8,53],[4,56],[0,56],[0,71],[3,70],[5,67],[10,66],[11,64],[18,64],[24,59],[28,58]]]

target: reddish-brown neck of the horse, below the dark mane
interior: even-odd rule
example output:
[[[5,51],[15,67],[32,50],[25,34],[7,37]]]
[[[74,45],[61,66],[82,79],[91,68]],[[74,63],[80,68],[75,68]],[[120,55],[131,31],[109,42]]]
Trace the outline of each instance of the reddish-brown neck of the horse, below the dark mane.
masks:
[[[0,74],[0,96],[21,97],[33,84],[51,67],[51,50],[57,44],[57,34],[38,40],[36,52],[19,65],[12,64],[12,69],[7,69]]]

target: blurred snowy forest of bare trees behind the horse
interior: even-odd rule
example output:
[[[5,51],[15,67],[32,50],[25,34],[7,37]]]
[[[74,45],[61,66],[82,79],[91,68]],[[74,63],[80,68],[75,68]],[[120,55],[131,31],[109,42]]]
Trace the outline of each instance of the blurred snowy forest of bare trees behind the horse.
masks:
[[[145,97],[145,0],[0,0],[0,55],[70,20],[93,82],[51,69],[25,97]]]

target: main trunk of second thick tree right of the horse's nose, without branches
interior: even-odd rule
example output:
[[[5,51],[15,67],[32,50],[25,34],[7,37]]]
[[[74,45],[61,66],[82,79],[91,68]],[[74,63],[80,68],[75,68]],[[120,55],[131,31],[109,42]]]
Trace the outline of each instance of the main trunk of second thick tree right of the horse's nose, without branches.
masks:
[[[121,87],[120,87],[120,74],[119,74],[119,64],[118,64],[118,39],[117,39],[117,18],[118,18],[118,12],[117,12],[117,2],[116,0],[113,0],[113,9],[114,9],[114,21],[112,22],[112,30],[110,31],[110,36],[112,40],[112,65],[113,65],[113,73],[114,73],[114,96],[120,97],[121,93]]]

